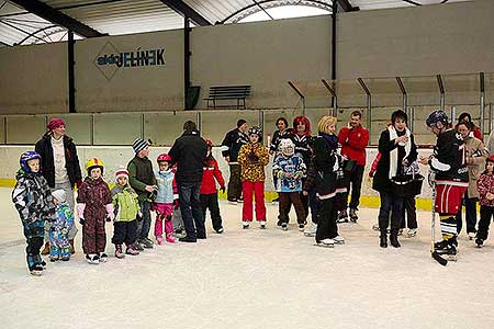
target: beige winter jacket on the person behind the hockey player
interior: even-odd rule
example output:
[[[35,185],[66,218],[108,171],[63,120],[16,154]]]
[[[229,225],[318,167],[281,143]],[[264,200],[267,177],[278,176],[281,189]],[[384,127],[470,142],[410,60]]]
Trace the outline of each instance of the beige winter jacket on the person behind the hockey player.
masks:
[[[476,137],[468,136],[463,138],[463,143],[467,152],[467,167],[469,168],[469,197],[479,197],[476,180],[483,170],[489,152],[484,144]]]

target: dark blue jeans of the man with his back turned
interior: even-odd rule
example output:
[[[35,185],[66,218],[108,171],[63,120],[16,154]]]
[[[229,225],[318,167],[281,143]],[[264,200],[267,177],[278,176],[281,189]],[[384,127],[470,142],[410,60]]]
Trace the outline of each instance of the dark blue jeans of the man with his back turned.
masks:
[[[197,239],[205,238],[204,215],[200,198],[201,182],[179,183],[180,212],[182,213],[183,226],[187,237]]]

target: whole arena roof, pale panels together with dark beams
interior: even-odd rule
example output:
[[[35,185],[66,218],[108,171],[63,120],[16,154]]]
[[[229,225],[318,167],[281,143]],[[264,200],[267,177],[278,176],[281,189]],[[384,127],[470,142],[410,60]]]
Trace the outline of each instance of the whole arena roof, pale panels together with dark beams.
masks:
[[[336,0],[339,11],[440,4],[469,0]],[[332,0],[0,0],[0,47],[233,24],[283,5],[315,7],[332,13]],[[304,15],[301,11],[301,15]],[[278,16],[277,16],[278,18]]]

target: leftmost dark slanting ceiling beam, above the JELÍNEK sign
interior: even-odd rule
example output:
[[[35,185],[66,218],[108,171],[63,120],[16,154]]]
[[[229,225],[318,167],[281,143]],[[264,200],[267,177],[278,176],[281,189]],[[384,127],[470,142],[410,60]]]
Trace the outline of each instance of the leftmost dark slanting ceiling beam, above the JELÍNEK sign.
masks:
[[[66,15],[65,13],[58,10],[53,9],[52,7],[38,0],[9,0],[9,1],[24,8],[29,12],[38,15],[42,19],[45,19],[48,22],[64,26],[65,29],[72,31],[81,36],[97,37],[106,35],[96,31],[92,27],[89,27],[88,25],[72,19],[69,15]]]

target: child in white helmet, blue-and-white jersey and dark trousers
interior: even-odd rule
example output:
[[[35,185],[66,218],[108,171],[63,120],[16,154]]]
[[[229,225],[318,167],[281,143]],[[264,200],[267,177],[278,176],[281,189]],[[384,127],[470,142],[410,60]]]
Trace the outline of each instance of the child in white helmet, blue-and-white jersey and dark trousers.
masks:
[[[278,178],[276,186],[280,196],[278,226],[288,230],[290,204],[296,212],[299,229],[305,227],[306,213],[300,201],[299,193],[302,191],[302,177],[305,174],[305,163],[301,156],[295,155],[295,144],[291,139],[281,139],[279,144],[281,154],[272,164],[273,175]]]

